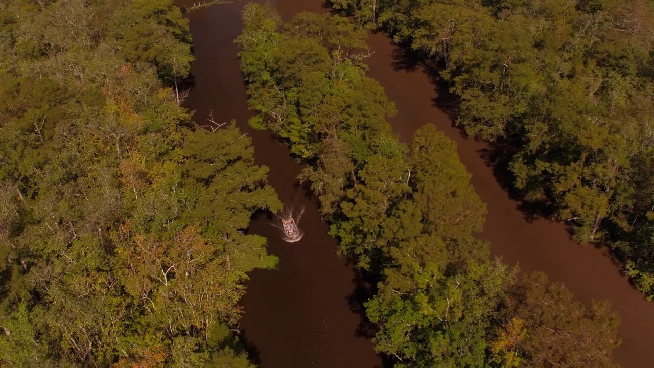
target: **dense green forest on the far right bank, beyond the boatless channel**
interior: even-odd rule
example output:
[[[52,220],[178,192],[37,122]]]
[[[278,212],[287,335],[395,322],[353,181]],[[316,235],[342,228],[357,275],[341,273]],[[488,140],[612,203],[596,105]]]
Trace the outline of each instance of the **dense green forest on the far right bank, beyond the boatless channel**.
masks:
[[[433,62],[456,124],[515,147],[514,187],[609,244],[654,299],[654,3],[332,0]]]

